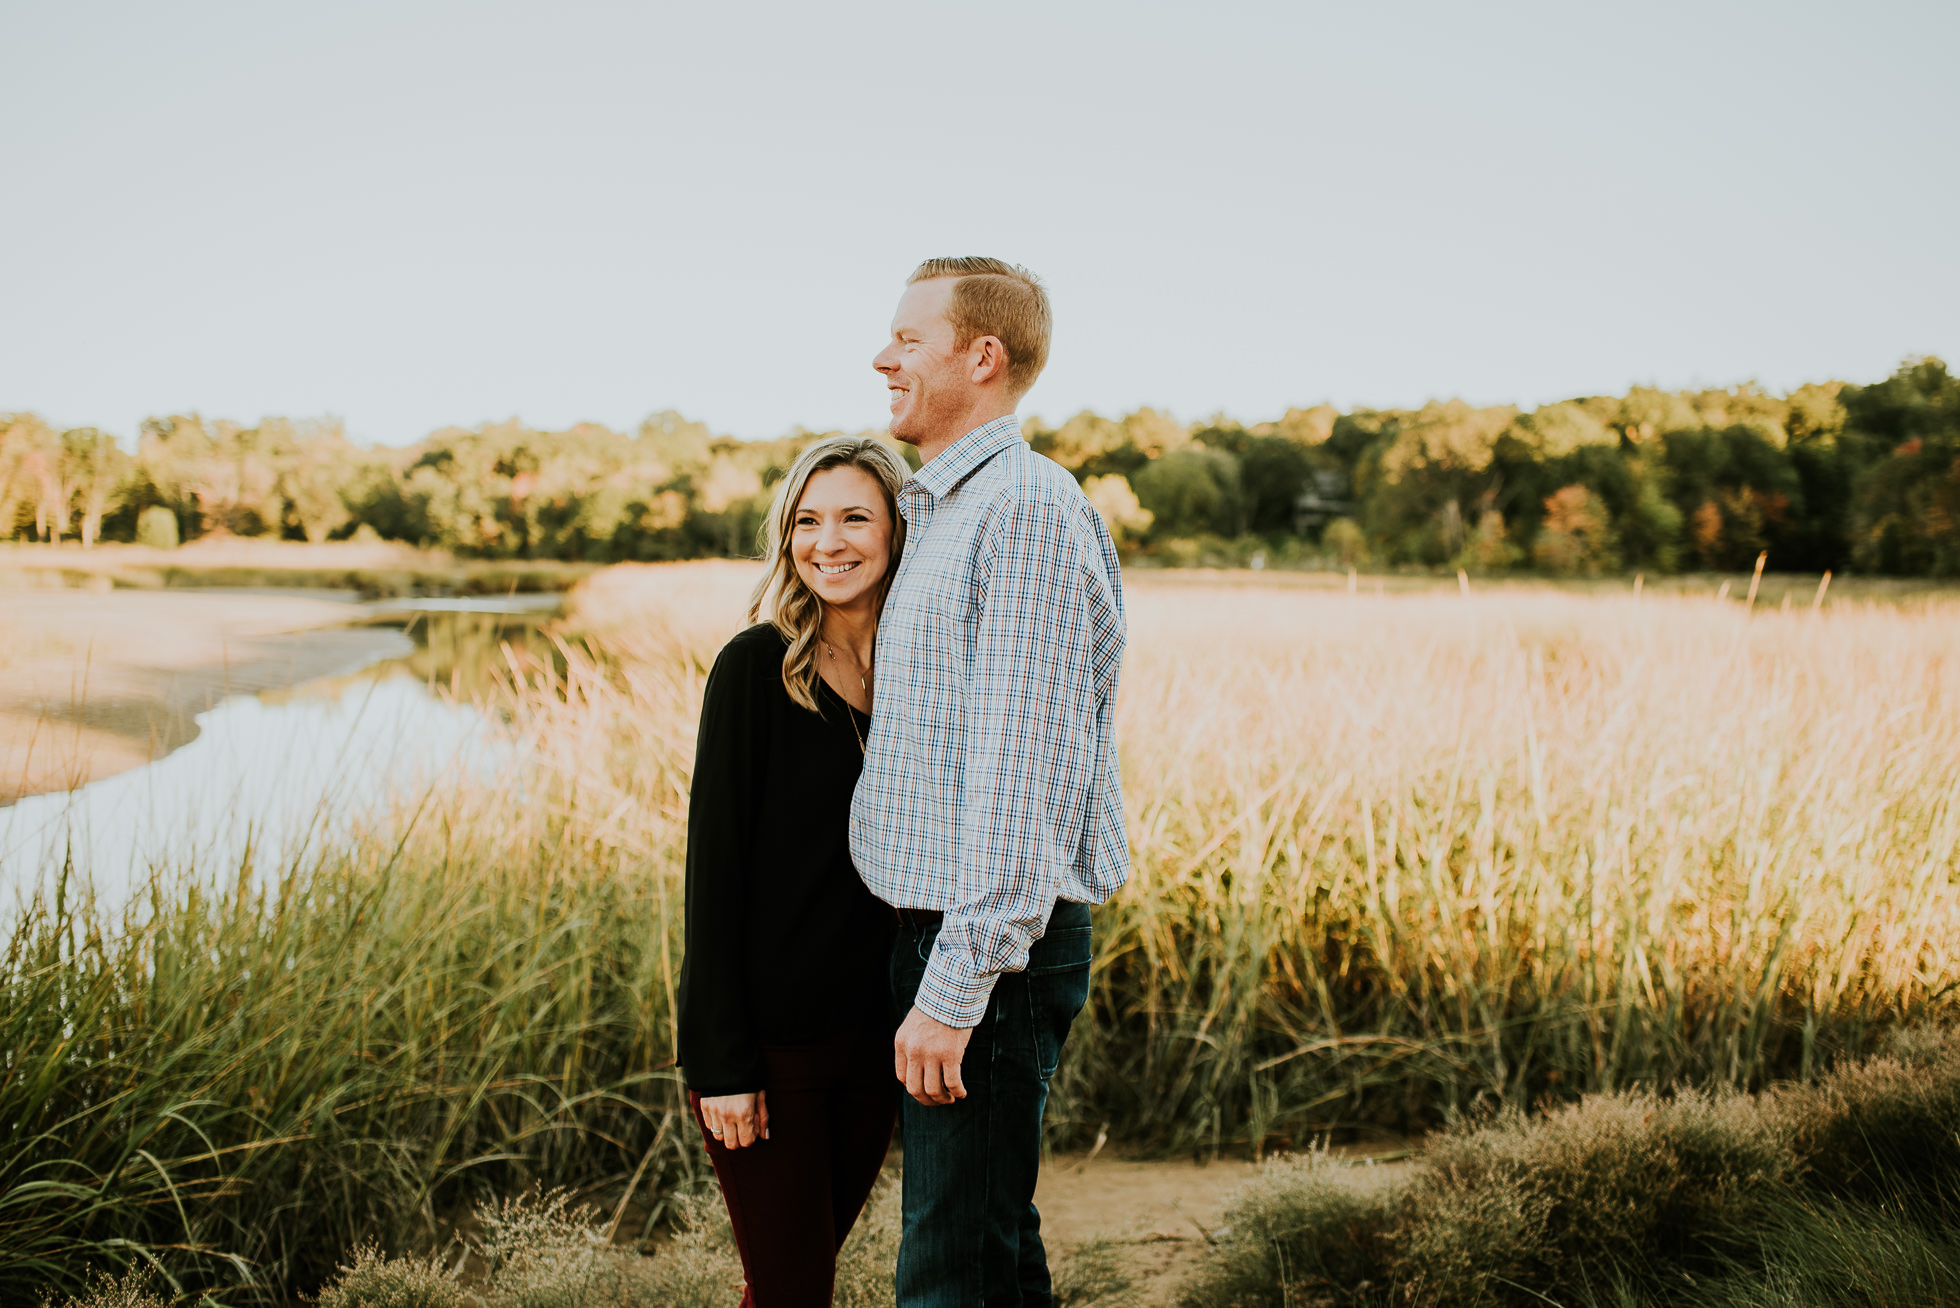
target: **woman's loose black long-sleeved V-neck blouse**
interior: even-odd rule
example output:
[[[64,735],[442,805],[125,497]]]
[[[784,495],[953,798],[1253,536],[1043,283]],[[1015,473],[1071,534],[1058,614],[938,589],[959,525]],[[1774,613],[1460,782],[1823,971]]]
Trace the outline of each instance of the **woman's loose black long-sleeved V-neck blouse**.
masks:
[[[821,677],[821,716],[796,704],[786,647],[776,628],[749,628],[702,700],[678,1033],[696,1094],[764,1088],[762,1045],[892,1030],[892,910],[851,865],[870,718]]]

